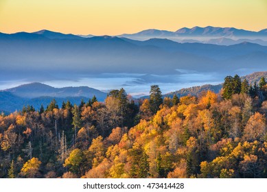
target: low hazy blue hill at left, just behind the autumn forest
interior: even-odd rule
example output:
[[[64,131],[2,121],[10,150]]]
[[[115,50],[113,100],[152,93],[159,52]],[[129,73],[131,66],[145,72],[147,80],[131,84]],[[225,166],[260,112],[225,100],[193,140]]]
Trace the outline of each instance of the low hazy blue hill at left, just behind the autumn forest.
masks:
[[[54,88],[37,82],[23,84],[0,91],[0,111],[14,112],[27,105],[38,109],[42,104],[46,107],[52,99],[56,99],[59,106],[67,100],[80,104],[82,99],[86,102],[94,95],[98,101],[104,101],[107,93],[88,86]]]

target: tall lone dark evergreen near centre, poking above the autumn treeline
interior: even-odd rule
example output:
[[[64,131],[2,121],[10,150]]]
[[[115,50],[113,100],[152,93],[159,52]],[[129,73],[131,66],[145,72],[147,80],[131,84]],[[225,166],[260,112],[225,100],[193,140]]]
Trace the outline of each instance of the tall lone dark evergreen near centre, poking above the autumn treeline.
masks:
[[[163,103],[161,89],[158,85],[150,86],[150,107],[153,114],[159,110],[159,106]]]

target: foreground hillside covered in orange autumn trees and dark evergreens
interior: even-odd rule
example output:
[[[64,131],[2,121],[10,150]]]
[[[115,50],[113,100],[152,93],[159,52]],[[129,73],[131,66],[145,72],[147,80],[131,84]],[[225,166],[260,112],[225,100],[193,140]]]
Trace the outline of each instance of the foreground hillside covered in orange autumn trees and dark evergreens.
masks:
[[[265,78],[238,75],[198,97],[27,106],[0,116],[0,178],[266,178],[266,115]]]

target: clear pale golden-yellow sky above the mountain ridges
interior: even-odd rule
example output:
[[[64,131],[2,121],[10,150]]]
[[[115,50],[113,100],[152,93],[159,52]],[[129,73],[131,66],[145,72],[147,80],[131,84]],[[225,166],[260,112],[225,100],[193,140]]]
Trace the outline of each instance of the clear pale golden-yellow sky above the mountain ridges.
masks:
[[[94,35],[181,27],[267,28],[267,0],[0,0],[0,32]]]

